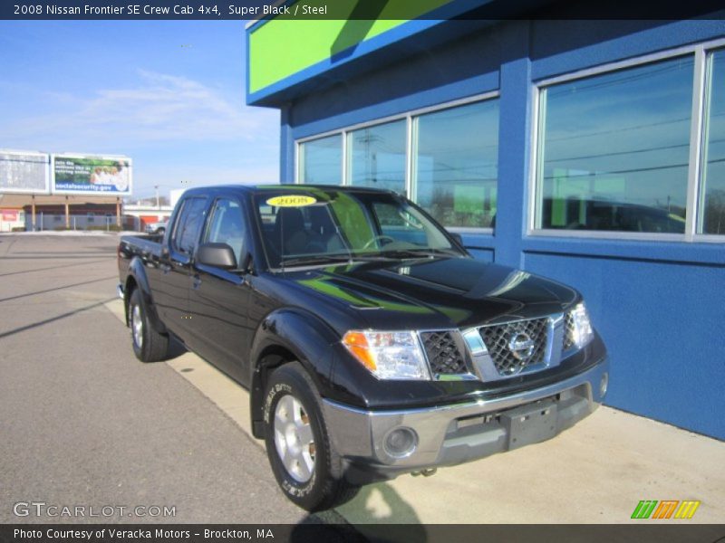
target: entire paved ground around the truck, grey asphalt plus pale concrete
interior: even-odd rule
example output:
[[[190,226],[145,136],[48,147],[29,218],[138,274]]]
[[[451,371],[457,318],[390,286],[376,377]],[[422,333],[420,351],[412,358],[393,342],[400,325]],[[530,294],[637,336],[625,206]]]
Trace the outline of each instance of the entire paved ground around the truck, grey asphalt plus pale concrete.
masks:
[[[725,518],[725,443],[602,408],[556,439],[365,487],[309,519],[247,435],[247,393],[195,355],[133,357],[114,235],[0,236],[0,522],[20,501],[169,506],[111,521],[621,523],[639,500]],[[84,519],[74,519],[75,521]],[[94,520],[94,519],[88,519]],[[642,522],[642,521],[640,521]]]

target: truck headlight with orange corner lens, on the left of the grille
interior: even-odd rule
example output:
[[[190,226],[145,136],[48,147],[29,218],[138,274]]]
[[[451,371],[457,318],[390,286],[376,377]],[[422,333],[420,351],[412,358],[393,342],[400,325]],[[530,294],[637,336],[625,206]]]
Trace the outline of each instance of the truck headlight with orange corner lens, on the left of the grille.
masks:
[[[430,380],[418,336],[411,330],[351,330],[344,335],[343,345],[379,379]]]

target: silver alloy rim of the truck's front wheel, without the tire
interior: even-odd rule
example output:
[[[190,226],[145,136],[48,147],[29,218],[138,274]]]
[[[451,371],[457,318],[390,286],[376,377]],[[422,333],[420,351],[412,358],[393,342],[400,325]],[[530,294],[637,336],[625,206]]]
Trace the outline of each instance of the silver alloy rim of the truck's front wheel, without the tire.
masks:
[[[275,448],[285,470],[297,482],[314,473],[314,436],[310,417],[293,395],[284,395],[275,408]]]

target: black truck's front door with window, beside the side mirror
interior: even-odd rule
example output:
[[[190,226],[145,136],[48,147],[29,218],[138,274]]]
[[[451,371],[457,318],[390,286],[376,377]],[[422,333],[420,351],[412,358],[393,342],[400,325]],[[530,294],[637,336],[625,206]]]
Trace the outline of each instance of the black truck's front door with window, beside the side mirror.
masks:
[[[201,243],[227,243],[237,270],[194,262],[189,290],[189,347],[227,374],[247,383],[247,358],[252,333],[247,310],[249,282],[239,269],[248,252],[247,217],[234,197],[218,197],[212,205]]]

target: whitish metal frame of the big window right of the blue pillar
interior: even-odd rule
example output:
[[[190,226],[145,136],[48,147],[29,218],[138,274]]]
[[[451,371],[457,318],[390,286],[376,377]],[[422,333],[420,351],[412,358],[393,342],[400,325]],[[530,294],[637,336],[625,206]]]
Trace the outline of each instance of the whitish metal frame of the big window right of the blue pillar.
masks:
[[[708,65],[710,63],[711,54],[723,46],[725,46],[725,39],[692,43],[690,45],[662,52],[653,52],[651,54],[641,55],[625,61],[609,62],[592,68],[573,71],[564,75],[558,75],[556,77],[533,82],[533,90],[531,93],[532,130],[529,142],[532,152],[530,153],[531,158],[528,168],[529,178],[527,186],[527,237],[725,243],[725,235],[723,234],[698,233],[698,229],[701,227],[701,208],[704,203],[702,200],[704,195],[701,194],[701,174],[703,167],[702,148],[704,138],[702,128],[705,122],[705,114],[707,113],[705,109],[705,100],[709,98],[706,96],[710,78]],[[558,83],[583,80],[596,75],[602,75],[604,73],[610,73],[627,68],[635,68],[652,62],[660,62],[684,56],[692,56],[694,60],[685,233],[577,231],[542,228],[539,225],[541,218],[541,199],[539,196],[542,188],[539,183],[539,179],[541,174],[540,168],[543,167],[543,162],[540,158],[544,155],[544,138],[542,130],[544,129],[546,121],[546,103],[543,103],[542,101],[542,91]]]

